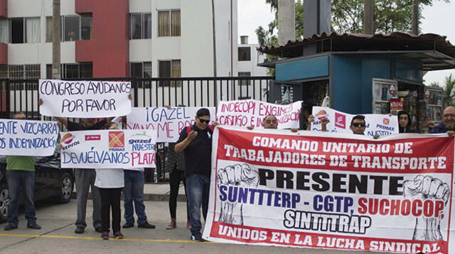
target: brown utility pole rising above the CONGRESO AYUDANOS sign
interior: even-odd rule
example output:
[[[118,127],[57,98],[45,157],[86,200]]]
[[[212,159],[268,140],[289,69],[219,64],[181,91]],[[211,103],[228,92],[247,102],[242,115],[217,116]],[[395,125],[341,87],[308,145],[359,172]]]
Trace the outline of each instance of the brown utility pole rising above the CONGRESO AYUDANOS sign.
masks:
[[[60,0],[53,0],[52,10],[52,78],[60,79]]]

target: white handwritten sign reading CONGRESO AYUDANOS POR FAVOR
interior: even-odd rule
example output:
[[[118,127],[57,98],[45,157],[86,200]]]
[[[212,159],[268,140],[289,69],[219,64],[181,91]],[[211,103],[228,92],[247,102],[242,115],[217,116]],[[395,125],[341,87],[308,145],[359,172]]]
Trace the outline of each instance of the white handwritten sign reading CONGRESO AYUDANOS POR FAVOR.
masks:
[[[44,116],[96,118],[131,112],[130,82],[40,79],[40,113]]]

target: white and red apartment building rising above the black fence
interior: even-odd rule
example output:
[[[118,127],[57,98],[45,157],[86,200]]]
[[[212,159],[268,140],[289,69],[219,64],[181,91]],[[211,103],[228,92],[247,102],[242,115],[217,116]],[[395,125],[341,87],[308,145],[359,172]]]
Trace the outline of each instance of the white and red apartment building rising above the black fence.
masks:
[[[0,77],[51,77],[52,2],[0,0]],[[61,0],[60,15],[64,78],[237,75],[237,0]]]

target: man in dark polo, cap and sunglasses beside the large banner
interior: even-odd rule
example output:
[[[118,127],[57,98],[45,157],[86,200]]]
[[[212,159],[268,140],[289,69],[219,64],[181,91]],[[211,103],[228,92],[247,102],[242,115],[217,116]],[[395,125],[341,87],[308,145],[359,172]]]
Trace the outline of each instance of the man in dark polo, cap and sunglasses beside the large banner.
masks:
[[[210,185],[212,134],[210,111],[199,109],[196,112],[196,123],[183,128],[177,140],[175,151],[183,153],[185,158],[186,194],[191,221],[191,240],[204,241],[200,228],[200,207],[204,220],[207,218],[208,191]]]

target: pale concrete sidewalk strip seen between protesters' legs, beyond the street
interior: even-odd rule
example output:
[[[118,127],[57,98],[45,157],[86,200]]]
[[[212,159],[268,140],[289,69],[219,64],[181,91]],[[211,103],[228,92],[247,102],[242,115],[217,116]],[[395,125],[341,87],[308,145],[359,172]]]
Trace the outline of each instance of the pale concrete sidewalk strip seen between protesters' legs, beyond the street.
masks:
[[[171,188],[169,187],[168,182],[164,184],[144,184],[144,201],[168,201],[170,191]],[[75,187],[72,195],[73,199],[76,198],[76,192],[77,190]],[[89,194],[88,198],[92,199],[92,195]],[[183,184],[181,184],[180,189],[178,189],[177,201],[186,201]]]

